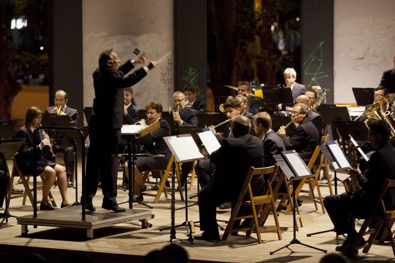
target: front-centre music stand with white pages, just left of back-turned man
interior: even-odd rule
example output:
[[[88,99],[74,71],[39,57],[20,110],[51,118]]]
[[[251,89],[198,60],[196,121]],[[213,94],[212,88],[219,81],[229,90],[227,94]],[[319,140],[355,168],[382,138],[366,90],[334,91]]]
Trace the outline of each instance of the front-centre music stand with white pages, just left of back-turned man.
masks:
[[[169,147],[171,153],[174,155],[174,160],[172,164],[172,175],[171,175],[171,225],[169,227],[161,228],[160,231],[170,228],[170,243],[173,242],[173,239],[176,238],[176,230],[175,230],[175,162],[177,160],[178,163],[182,162],[191,162],[203,160],[204,156],[201,155],[195,141],[193,140],[191,135],[184,136],[168,136],[163,137],[167,146]],[[188,154],[185,154],[185,148],[188,149]],[[195,232],[195,226],[193,221],[188,221],[188,198],[187,198],[187,187],[185,187],[185,222],[178,226],[186,226],[188,232],[188,241],[193,244],[194,238],[192,237],[192,233]]]

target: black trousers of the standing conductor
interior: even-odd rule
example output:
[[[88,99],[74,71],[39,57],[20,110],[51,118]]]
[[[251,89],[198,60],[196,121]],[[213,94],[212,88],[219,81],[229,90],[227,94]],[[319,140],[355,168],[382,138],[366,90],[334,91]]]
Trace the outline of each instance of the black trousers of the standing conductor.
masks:
[[[92,122],[92,119],[91,119]],[[102,183],[102,207],[117,205],[118,148],[120,129],[89,126],[90,146],[86,161],[86,202],[92,202],[99,181]]]

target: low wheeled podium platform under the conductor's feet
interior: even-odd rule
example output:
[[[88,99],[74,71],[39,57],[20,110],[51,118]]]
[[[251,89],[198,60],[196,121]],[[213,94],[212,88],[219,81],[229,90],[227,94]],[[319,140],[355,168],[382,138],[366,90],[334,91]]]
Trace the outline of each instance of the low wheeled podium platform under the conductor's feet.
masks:
[[[148,228],[148,219],[154,218],[151,210],[126,209],[124,213],[114,213],[111,210],[96,207],[95,212],[86,212],[85,221],[81,220],[81,206],[71,206],[53,211],[17,217],[17,224],[21,225],[22,236],[27,236],[28,225],[45,225],[53,227],[69,227],[86,229],[87,238],[93,238],[93,229],[141,221],[142,228]]]

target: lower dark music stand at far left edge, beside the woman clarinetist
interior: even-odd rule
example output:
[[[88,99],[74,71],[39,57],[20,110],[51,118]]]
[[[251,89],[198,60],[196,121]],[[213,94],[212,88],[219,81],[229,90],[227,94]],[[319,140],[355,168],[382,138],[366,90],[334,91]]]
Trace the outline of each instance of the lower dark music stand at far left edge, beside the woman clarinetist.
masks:
[[[0,153],[3,155],[3,161],[9,160],[14,156],[15,152],[21,148],[21,145],[25,141],[25,138],[18,138],[18,139],[10,139],[10,140],[0,140]],[[7,164],[5,163],[5,166]],[[3,224],[4,220],[5,223],[8,223],[8,218],[10,217],[15,217],[9,214],[8,211],[8,194],[7,194],[7,176],[6,176],[6,171],[4,171],[4,187],[5,187],[5,196],[4,196],[4,201],[5,201],[5,210],[4,213],[0,213],[0,217],[2,216],[3,219],[0,222],[0,226]],[[15,217],[16,218],[16,217]]]

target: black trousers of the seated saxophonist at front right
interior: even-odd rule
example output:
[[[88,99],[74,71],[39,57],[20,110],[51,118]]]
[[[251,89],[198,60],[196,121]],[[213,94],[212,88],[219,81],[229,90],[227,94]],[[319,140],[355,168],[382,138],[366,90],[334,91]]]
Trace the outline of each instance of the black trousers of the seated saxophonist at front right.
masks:
[[[323,203],[336,232],[349,236],[357,234],[355,218],[365,219],[372,211],[370,204],[352,198],[347,193],[328,195],[324,198]]]

